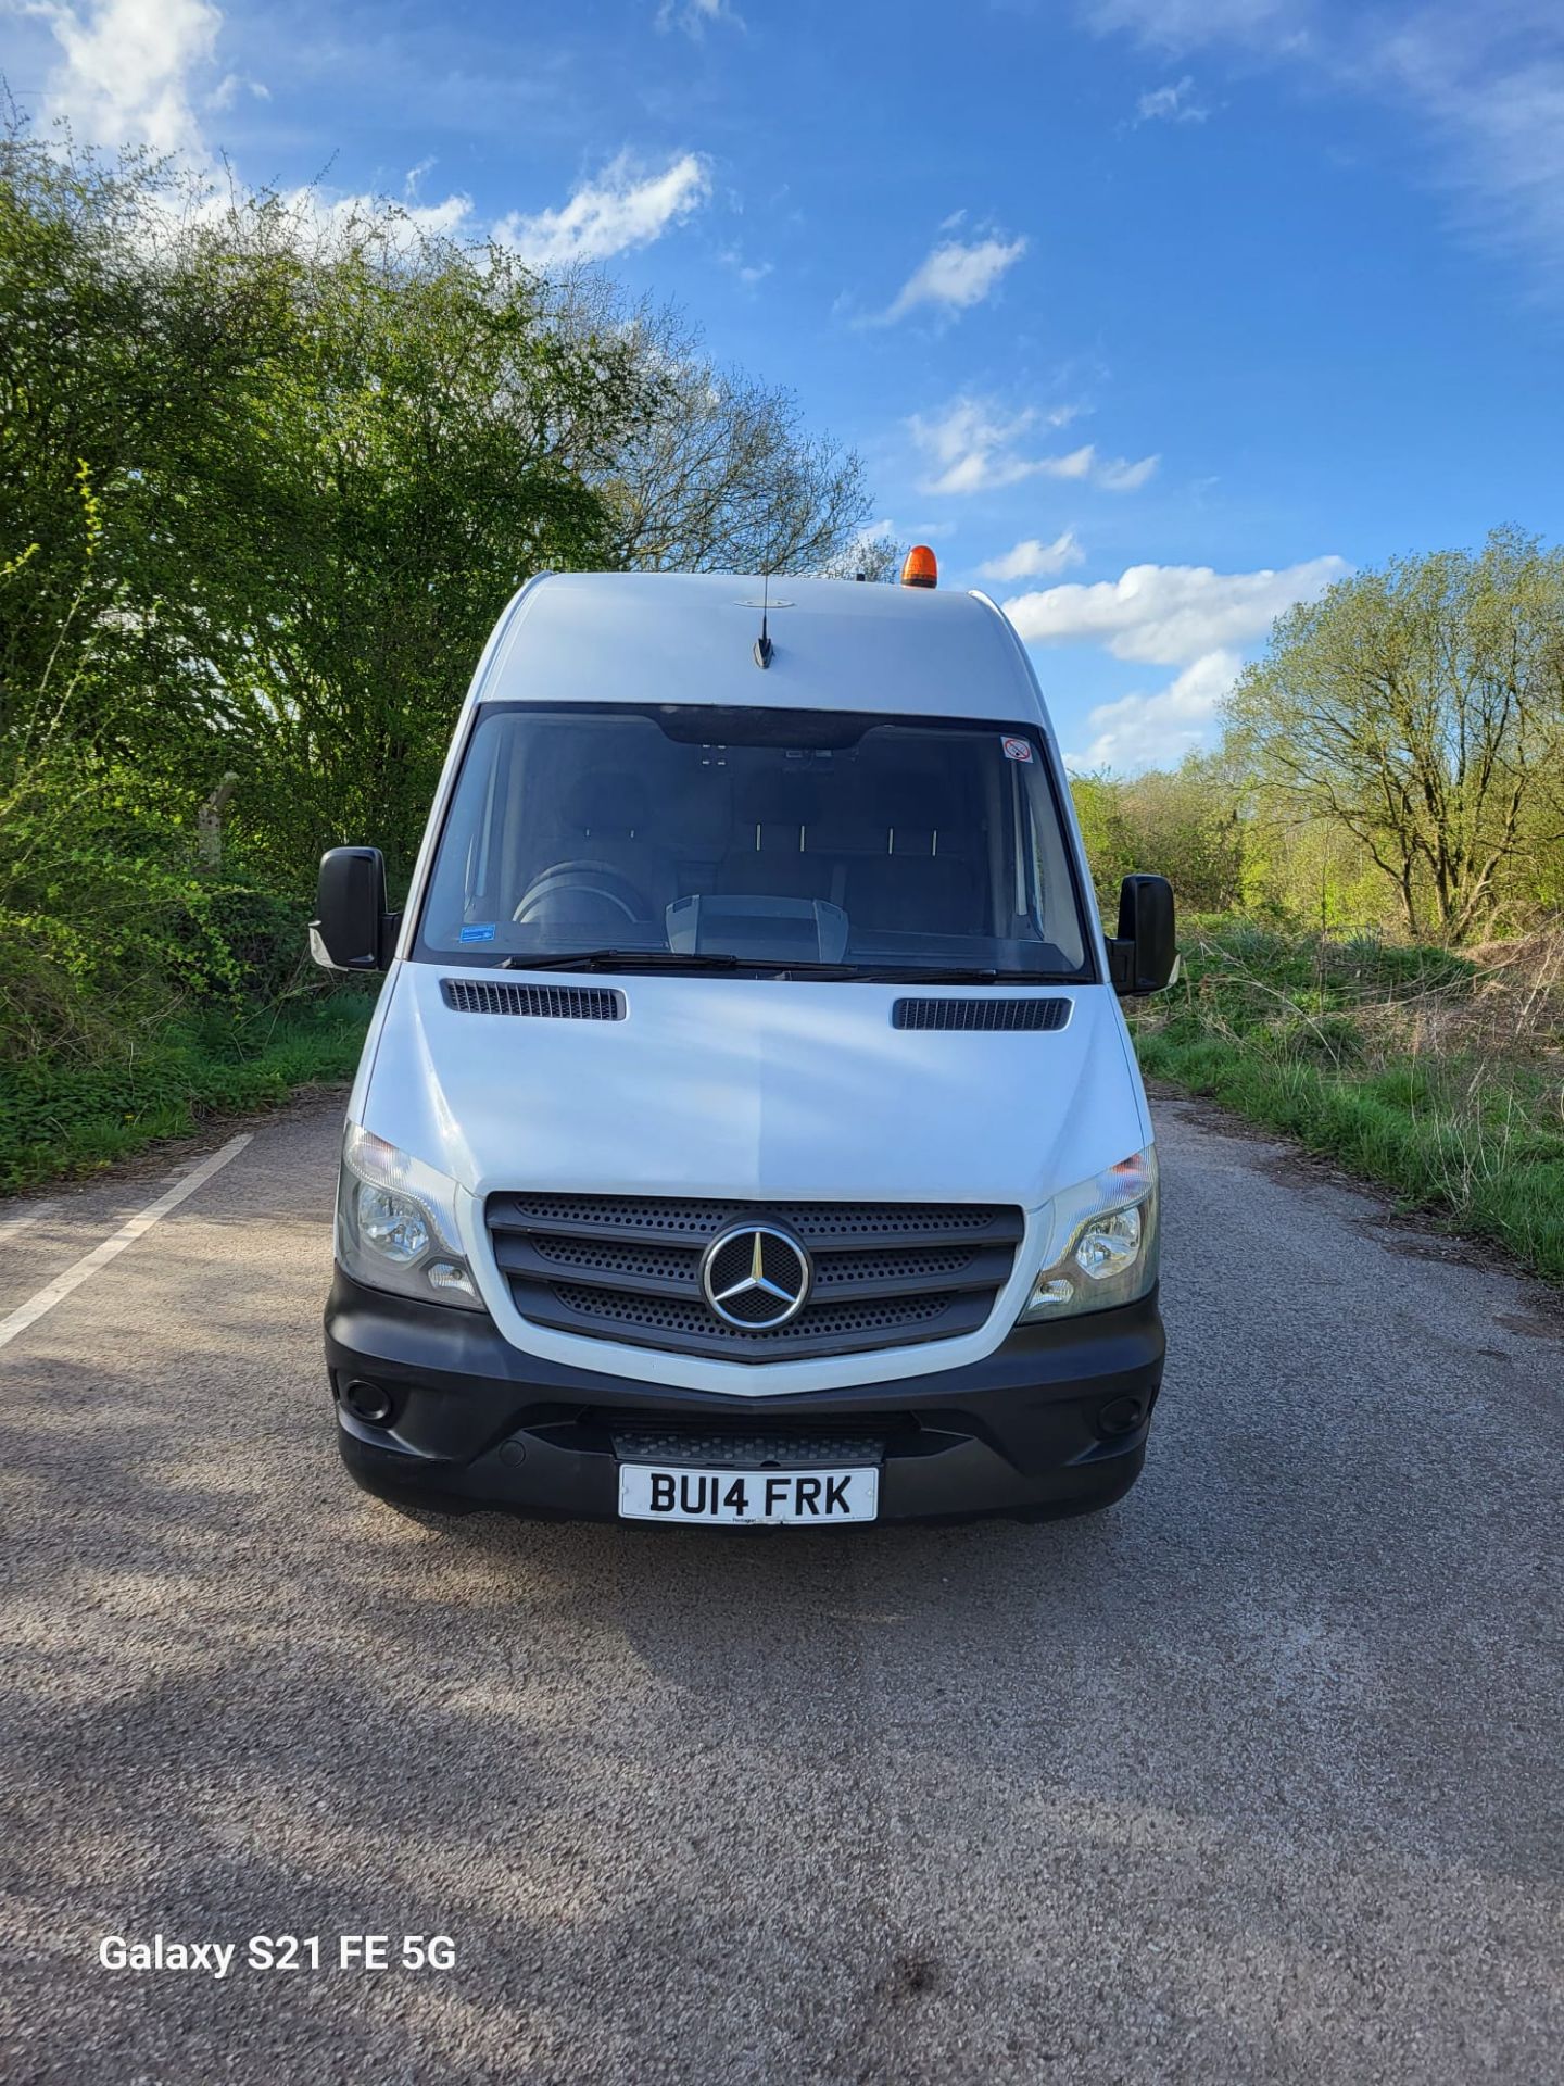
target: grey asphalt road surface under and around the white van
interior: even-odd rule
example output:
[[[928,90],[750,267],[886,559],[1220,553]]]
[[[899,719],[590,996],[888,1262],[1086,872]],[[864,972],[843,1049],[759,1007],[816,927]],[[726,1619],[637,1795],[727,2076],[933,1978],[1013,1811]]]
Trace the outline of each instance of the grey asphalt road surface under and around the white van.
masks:
[[[1556,2080],[1564,1318],[1159,1133],[1122,1506],[732,1539],[355,1491],[336,1118],[256,1126],[0,1350],[0,2073]],[[167,1185],[0,1208],[0,1318]]]

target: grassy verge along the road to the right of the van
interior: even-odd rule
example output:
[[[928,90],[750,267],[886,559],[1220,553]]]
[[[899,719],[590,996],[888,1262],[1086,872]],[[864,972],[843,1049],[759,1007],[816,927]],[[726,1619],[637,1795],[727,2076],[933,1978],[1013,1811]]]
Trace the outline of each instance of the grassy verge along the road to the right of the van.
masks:
[[[1474,957],[1212,922],[1141,1066],[1564,1283],[1564,930]]]

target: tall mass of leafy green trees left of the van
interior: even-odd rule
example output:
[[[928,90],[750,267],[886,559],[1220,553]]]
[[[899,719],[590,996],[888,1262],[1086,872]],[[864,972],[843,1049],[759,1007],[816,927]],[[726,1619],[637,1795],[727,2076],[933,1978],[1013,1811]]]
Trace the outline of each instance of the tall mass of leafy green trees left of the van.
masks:
[[[50,718],[250,859],[417,843],[465,680],[544,567],[611,565],[632,344],[394,207],[194,194],[0,140],[0,745]],[[83,496],[85,488],[85,496]]]

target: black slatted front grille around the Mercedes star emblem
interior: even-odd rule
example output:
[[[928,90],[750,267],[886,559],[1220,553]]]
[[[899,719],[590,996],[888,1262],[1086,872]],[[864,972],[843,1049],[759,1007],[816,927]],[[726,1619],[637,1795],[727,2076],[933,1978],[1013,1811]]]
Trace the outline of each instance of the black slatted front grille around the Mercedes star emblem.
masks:
[[[1020,1210],[963,1202],[490,1195],[486,1216],[515,1308],[534,1325],[736,1362],[974,1333],[1022,1237]],[[786,1325],[728,1325],[707,1304],[705,1250],[736,1224],[776,1227],[807,1250],[813,1285]]]

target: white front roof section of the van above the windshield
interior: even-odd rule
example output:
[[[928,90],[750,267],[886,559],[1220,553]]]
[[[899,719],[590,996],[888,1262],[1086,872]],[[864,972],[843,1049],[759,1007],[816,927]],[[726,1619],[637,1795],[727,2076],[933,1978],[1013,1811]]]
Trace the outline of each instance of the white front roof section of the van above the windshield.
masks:
[[[984,595],[855,580],[580,572],[515,597],[473,701],[886,709],[1047,726],[1013,628]]]

